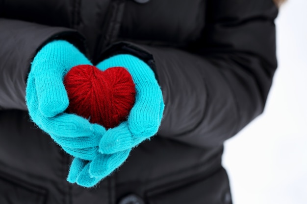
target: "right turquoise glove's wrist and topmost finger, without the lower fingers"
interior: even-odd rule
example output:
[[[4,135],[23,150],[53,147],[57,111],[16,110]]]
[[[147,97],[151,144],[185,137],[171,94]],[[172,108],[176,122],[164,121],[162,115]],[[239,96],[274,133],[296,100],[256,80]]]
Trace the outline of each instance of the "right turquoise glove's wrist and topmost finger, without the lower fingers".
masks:
[[[155,135],[164,110],[162,91],[153,70],[145,62],[133,55],[122,54],[97,65],[102,70],[116,66],[127,68],[132,76],[136,90],[135,105],[130,111],[127,123],[123,122],[102,136],[100,151],[106,154],[132,148]]]

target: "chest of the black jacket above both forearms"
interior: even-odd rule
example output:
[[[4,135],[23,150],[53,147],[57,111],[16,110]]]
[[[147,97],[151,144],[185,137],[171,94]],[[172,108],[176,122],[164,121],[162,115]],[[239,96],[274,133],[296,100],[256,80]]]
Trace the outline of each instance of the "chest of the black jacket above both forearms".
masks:
[[[143,1],[144,3],[138,3]],[[91,58],[116,41],[184,48],[205,27],[206,0],[14,0],[1,16],[77,29]]]

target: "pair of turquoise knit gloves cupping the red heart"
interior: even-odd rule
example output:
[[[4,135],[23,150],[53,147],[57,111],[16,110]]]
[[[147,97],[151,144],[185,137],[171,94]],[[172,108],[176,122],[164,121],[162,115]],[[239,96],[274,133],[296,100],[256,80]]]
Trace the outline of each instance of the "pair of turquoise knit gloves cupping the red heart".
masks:
[[[33,122],[74,157],[67,181],[91,187],[117,169],[133,147],[157,133],[164,103],[153,70],[133,55],[120,54],[96,67],[124,67],[131,74],[136,93],[128,119],[106,130],[66,113],[69,98],[63,79],[77,65],[92,63],[67,41],[56,40],[42,47],[31,64],[26,105]]]

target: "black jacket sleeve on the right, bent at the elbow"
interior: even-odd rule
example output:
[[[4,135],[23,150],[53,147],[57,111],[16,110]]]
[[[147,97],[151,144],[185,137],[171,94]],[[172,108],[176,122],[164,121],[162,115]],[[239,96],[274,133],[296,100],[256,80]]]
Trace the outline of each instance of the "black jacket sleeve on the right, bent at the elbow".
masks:
[[[102,55],[133,53],[153,68],[165,102],[159,136],[216,146],[263,112],[278,9],[270,0],[233,3],[210,1],[202,39],[188,49],[120,42]]]

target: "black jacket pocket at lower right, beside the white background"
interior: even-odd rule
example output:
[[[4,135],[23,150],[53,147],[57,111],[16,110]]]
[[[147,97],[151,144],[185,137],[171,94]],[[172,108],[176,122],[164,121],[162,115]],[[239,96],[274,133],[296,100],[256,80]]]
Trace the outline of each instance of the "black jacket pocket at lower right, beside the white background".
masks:
[[[162,186],[147,194],[149,204],[231,204],[230,187],[224,168],[205,179],[168,188]]]

